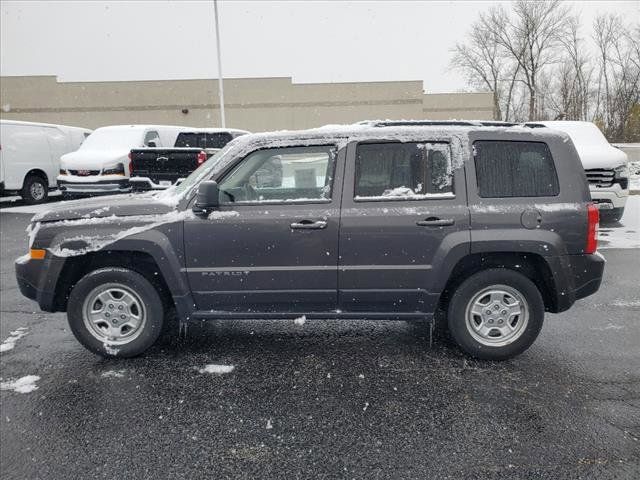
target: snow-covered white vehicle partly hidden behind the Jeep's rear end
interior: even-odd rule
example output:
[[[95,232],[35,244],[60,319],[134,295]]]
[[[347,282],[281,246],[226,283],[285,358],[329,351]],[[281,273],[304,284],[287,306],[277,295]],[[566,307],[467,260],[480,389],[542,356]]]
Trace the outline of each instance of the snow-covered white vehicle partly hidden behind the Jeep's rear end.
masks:
[[[591,198],[600,209],[603,221],[622,218],[629,196],[627,155],[611,145],[591,122],[532,122],[565,132],[571,137],[587,174]]]

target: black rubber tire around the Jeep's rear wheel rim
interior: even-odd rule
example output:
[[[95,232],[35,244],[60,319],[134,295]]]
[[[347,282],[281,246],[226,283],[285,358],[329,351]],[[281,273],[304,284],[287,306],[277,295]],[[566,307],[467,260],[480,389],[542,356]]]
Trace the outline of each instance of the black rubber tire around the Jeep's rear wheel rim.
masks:
[[[472,327],[468,325],[467,312],[468,308],[471,308],[471,302],[481,295],[481,292],[492,287],[500,290],[499,286],[506,286],[520,295],[528,312],[527,321],[521,324],[523,326],[518,330],[518,336],[514,336],[510,343],[487,345],[486,342],[499,342],[500,339],[488,339],[482,343],[474,338],[471,333]],[[489,309],[489,307],[486,308]],[[498,312],[495,315],[498,315]],[[544,301],[536,285],[521,273],[508,269],[487,269],[470,276],[458,286],[449,302],[447,316],[449,333],[465,353],[482,360],[506,360],[524,352],[538,337],[544,322]],[[480,320],[477,316],[472,317],[475,321]],[[525,317],[514,316],[509,317],[508,321],[518,325],[517,322],[522,321],[523,318]],[[489,320],[491,323],[494,322],[493,318],[487,321]],[[498,319],[495,320],[495,322],[498,321]],[[494,326],[495,330],[490,330],[490,333],[498,332],[497,323]],[[509,341],[507,337],[504,338],[505,342]]]

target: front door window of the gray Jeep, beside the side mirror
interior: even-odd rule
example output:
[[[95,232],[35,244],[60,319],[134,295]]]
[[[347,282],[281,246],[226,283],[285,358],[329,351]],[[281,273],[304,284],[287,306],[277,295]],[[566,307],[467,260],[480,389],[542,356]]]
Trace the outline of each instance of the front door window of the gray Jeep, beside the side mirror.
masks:
[[[220,183],[221,203],[329,201],[334,146],[257,150]]]

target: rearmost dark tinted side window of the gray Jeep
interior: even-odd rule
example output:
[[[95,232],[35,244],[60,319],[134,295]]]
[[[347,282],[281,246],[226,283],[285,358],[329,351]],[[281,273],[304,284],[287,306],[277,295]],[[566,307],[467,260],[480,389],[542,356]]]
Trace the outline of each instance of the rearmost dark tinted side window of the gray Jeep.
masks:
[[[480,197],[553,197],[560,192],[546,143],[483,140],[473,146]]]

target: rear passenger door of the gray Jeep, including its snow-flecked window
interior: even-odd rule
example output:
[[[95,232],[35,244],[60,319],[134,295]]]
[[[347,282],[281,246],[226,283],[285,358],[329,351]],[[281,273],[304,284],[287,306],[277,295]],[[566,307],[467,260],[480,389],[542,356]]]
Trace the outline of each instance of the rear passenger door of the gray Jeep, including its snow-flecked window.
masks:
[[[342,214],[339,308],[427,312],[437,300],[433,268],[468,245],[463,168],[446,142],[350,143]]]

